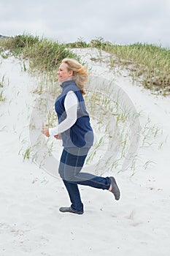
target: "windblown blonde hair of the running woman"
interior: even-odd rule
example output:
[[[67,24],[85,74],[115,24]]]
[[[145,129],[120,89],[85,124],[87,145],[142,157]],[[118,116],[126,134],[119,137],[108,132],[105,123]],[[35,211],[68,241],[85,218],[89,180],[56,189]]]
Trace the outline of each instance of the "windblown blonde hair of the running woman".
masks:
[[[82,95],[85,95],[85,83],[88,80],[88,71],[75,59],[65,58],[61,63],[67,64],[68,71],[73,71],[73,80],[80,89]]]

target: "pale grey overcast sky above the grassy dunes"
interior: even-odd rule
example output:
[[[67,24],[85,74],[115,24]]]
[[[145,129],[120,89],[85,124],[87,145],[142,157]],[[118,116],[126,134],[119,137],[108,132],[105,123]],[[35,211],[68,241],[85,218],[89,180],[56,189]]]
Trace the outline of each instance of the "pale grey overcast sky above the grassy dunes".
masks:
[[[0,0],[0,34],[170,48],[170,0]]]

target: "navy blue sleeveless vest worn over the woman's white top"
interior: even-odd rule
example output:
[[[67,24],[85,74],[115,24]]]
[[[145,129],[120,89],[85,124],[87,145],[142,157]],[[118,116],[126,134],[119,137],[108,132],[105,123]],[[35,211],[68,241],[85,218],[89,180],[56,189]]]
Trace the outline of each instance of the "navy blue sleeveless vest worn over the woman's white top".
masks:
[[[85,107],[85,101],[82,97],[80,89],[74,80],[67,80],[61,84],[63,89],[61,94],[55,101],[55,111],[58,115],[58,123],[60,124],[66,118],[64,108],[64,99],[69,91],[74,91],[78,99],[77,121],[65,132],[61,133],[64,147],[85,147],[90,148],[93,145],[93,129],[90,126],[90,117]]]

